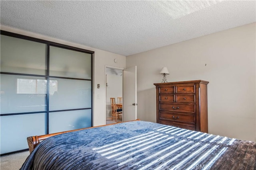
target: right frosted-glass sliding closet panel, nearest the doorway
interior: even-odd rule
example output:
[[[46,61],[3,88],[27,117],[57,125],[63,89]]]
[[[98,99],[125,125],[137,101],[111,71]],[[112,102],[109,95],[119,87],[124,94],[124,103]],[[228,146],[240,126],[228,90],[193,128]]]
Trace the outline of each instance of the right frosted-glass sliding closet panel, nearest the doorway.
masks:
[[[91,54],[50,46],[49,133],[92,126]]]

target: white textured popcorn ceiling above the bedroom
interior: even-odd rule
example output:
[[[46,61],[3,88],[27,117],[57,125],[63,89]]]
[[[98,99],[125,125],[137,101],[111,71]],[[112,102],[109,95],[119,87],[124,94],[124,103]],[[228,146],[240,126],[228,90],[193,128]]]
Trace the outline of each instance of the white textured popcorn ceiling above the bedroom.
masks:
[[[256,1],[0,1],[1,25],[132,55],[256,21]]]

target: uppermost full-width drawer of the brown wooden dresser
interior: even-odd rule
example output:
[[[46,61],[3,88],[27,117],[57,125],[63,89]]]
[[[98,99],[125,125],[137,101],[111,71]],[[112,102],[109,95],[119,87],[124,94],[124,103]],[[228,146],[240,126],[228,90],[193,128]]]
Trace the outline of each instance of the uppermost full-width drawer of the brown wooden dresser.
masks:
[[[186,112],[195,113],[194,104],[164,104],[159,103],[159,110],[161,111],[175,111],[175,112]]]

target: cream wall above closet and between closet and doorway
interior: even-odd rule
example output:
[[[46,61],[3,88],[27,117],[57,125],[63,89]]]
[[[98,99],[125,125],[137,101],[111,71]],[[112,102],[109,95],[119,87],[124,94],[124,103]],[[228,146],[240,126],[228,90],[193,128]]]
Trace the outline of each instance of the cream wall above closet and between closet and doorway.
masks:
[[[125,68],[126,57],[123,55],[118,55],[114,53],[110,53],[108,51],[103,51],[99,49],[94,49],[91,47],[87,47],[84,45],[71,43],[68,41],[47,37],[44,35],[39,35],[36,33],[15,29],[12,27],[7,27],[1,25],[1,30],[9,31],[12,33],[18,33],[21,35],[26,35],[29,37],[34,37],[38,39],[44,39],[46,41],[52,41],[64,45],[70,45],[72,47],[78,47],[81,49],[86,49],[90,51],[94,51],[93,57],[93,126],[104,125],[105,124],[105,65]],[[114,63],[114,59],[118,59],[118,63]],[[97,88],[97,84],[100,84],[100,88]]]

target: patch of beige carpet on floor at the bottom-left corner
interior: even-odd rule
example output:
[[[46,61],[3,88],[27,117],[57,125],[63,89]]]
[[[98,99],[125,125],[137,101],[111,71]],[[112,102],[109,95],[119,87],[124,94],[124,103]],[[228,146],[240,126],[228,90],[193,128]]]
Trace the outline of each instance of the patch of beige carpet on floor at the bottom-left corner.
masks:
[[[0,157],[1,170],[19,170],[29,155],[29,151]]]

